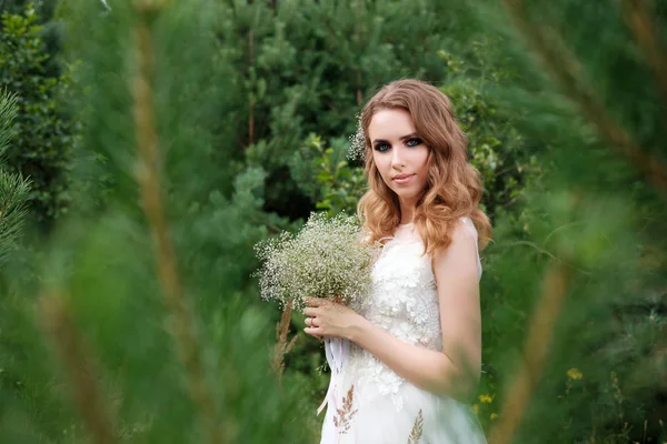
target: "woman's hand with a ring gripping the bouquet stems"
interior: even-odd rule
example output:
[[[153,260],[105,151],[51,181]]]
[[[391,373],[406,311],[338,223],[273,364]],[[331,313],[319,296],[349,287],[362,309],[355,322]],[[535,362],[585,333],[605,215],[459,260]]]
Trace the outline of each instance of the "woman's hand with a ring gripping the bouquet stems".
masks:
[[[303,331],[315,337],[334,336],[354,340],[364,316],[352,309],[328,301],[326,299],[306,297],[308,307],[303,310],[306,329]]]

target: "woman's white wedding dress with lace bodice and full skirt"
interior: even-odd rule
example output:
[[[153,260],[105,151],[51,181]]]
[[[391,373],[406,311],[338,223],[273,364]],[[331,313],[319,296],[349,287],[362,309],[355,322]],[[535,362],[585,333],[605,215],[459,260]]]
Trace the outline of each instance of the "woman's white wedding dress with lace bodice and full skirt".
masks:
[[[461,221],[477,239],[472,222]],[[439,307],[431,259],[422,252],[414,226],[400,225],[378,253],[370,299],[355,309],[402,341],[441,351],[439,310],[447,307]],[[481,275],[479,256],[478,268]],[[321,444],[486,443],[469,406],[402,380],[354,343],[346,347],[344,365],[332,369]]]

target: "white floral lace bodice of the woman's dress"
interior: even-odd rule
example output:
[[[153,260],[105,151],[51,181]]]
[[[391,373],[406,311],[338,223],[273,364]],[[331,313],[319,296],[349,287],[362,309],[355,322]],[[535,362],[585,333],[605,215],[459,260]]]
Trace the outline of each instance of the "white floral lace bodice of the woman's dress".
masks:
[[[468,219],[464,224],[475,231]],[[475,231],[475,235],[477,232]],[[400,225],[379,251],[372,270],[372,290],[362,306],[356,307],[370,322],[391,335],[429,350],[442,350],[440,312],[431,258],[411,224]],[[481,265],[478,263],[479,273]],[[404,380],[372,354],[351,344],[350,380],[357,381],[359,401],[390,395],[401,410],[400,386]]]

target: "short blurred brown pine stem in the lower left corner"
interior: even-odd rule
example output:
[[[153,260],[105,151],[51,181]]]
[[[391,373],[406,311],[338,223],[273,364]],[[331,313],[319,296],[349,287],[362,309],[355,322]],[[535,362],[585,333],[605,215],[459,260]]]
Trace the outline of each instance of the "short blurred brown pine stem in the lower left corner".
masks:
[[[46,294],[40,301],[41,323],[51,340],[72,389],[72,397],[83,424],[98,444],[112,444],[113,421],[100,389],[91,363],[91,352],[87,350],[76,331],[68,309],[58,294]]]

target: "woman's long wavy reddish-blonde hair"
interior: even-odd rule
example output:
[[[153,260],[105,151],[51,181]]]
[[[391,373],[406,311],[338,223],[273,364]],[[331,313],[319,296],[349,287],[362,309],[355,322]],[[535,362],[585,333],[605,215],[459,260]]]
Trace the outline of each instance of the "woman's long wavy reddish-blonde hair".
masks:
[[[479,234],[479,248],[491,239],[491,224],[478,208],[482,194],[479,172],[468,163],[468,142],[458,127],[451,101],[440,90],[418,80],[397,80],[380,89],[360,114],[368,191],[357,212],[369,242],[391,236],[400,223],[398,195],[385,183],[372,159],[368,127],[382,109],[401,109],[412,118],[417,134],[429,149],[426,190],[417,203],[414,223],[425,253],[435,255],[451,243],[459,218],[469,216]]]

